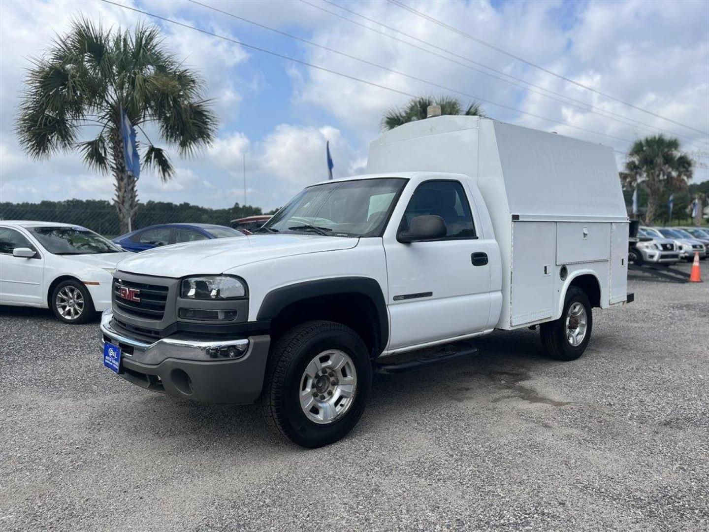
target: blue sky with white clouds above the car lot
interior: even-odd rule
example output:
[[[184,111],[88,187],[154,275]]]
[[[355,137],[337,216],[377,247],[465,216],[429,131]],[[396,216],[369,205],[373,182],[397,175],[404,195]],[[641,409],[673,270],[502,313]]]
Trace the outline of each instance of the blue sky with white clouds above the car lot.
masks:
[[[111,177],[86,170],[77,155],[29,160],[13,134],[29,58],[41,55],[77,16],[113,28],[157,24],[167,46],[201,72],[214,99],[220,119],[216,142],[191,159],[174,154],[177,174],[166,184],[145,172],[138,184],[143,201],[242,203],[245,155],[247,203],[271,209],[303,185],[326,178],[325,140],[335,177],[361,172],[382,114],[408,100],[401,93],[452,94],[464,103],[476,96],[493,118],[609,145],[620,152],[619,165],[635,138],[677,135],[699,162],[695,181],[709,179],[707,1],[401,0],[507,54],[394,1],[199,1],[302,40],[187,0],[116,0],[372,84],[100,0],[3,0],[0,201],[111,197]]]

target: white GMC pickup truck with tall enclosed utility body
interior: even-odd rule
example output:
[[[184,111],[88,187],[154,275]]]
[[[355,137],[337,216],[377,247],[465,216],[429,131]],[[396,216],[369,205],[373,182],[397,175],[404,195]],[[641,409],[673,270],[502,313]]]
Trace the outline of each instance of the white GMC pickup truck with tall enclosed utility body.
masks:
[[[550,357],[574,360],[592,309],[632,301],[609,148],[442,116],[381,135],[367,170],[307,187],[255,235],[121,262],[104,365],[177,397],[260,398],[318,447],[357,423],[375,371],[537,324]]]

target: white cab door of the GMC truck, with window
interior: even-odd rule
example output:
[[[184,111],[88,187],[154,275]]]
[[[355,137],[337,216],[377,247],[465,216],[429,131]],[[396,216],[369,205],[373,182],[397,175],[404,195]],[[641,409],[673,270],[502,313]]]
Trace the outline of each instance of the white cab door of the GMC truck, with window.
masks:
[[[389,350],[484,331],[491,307],[488,245],[476,234],[470,200],[456,179],[431,179],[406,192],[384,234],[389,284]],[[407,187],[407,188],[408,188]],[[443,218],[439,240],[401,243],[396,235],[415,216]],[[395,218],[398,216],[398,219]],[[393,226],[393,227],[392,227]]]

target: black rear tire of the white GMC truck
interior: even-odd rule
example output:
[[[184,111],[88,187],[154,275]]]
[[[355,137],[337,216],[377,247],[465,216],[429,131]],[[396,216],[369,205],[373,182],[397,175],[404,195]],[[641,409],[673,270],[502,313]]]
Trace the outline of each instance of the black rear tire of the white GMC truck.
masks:
[[[569,315],[569,309],[571,309],[571,307],[574,307],[574,309],[582,308],[586,318],[586,327],[584,328],[582,338],[576,336],[576,340],[580,340],[578,345],[573,345],[567,336],[569,332],[569,327],[566,324],[567,318],[569,318],[572,325],[574,323],[572,321],[573,318]],[[583,316],[583,314],[581,314],[581,316]],[[576,328],[574,331],[578,333],[579,329]],[[545,353],[549,357],[556,360],[576,360],[584,354],[588,346],[588,341],[591,340],[592,331],[593,312],[591,309],[591,301],[588,301],[586,292],[579,287],[569,287],[566,291],[566,298],[564,299],[564,311],[562,311],[562,316],[557,320],[542,323],[540,326],[542,348],[544,348]]]

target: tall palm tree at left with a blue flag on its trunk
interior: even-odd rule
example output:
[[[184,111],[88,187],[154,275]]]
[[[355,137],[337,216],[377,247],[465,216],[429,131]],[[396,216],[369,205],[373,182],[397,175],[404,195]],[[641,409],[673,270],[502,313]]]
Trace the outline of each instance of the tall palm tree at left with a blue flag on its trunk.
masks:
[[[193,154],[216,133],[216,116],[202,94],[199,75],[164,48],[155,26],[113,31],[82,18],[32,60],[16,133],[34,159],[76,150],[92,170],[113,173],[114,203],[125,232],[138,197],[135,179],[125,171],[122,111],[145,136],[142,165],[166,181],[174,167],[142,126],[151,124],[180,155]]]

